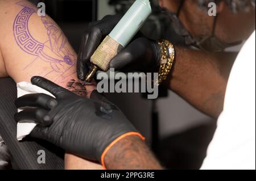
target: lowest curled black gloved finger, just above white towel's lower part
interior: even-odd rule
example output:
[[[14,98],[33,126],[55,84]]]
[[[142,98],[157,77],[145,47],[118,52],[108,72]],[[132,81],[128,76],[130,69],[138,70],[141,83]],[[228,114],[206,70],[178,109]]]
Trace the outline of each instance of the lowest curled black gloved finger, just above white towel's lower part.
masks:
[[[52,119],[48,113],[49,111],[42,108],[27,109],[15,113],[14,119],[18,123],[37,123],[42,127],[48,127],[52,124]]]

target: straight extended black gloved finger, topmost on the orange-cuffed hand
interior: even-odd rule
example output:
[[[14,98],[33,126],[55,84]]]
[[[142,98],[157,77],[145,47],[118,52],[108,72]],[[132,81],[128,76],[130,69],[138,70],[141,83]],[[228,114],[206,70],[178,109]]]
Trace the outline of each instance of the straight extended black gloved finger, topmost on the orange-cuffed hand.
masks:
[[[53,83],[49,81],[46,78],[35,76],[31,78],[31,83],[33,85],[39,86],[53,94],[56,98],[60,98],[63,95],[71,94],[67,89],[64,89],[63,87],[60,87],[56,85],[56,83]]]

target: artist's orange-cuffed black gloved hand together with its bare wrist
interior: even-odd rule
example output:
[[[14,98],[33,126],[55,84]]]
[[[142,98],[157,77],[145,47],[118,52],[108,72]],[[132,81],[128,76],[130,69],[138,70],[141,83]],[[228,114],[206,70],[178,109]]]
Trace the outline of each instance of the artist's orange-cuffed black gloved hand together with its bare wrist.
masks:
[[[101,161],[106,169],[162,169],[144,137],[104,96],[94,91],[91,100],[80,98],[43,77],[33,77],[31,82],[56,97],[34,94],[15,101],[17,108],[33,107],[14,116],[16,121],[38,123],[31,137]]]

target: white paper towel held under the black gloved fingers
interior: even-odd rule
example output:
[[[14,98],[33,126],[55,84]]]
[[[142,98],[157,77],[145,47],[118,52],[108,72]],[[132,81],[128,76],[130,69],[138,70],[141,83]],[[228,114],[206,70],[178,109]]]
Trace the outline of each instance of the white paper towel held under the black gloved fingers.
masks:
[[[50,92],[42,89],[41,87],[32,85],[28,82],[20,82],[17,83],[17,96],[18,98],[26,95],[26,94],[35,94],[35,93],[43,93],[50,96],[53,96]],[[55,96],[53,96],[55,98]],[[20,112],[22,110],[18,110]],[[29,120],[22,120],[22,122],[26,122]],[[17,124],[17,140],[21,141],[24,137],[32,132],[32,130],[36,127],[35,123],[18,123]]]

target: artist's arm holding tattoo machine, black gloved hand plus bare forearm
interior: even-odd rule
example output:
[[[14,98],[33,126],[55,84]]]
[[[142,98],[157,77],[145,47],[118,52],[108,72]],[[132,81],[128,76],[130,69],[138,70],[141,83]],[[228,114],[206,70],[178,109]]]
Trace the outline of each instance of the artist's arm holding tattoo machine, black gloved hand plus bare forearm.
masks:
[[[105,16],[87,28],[82,39],[82,51],[79,56],[81,58],[78,60],[80,79],[84,79],[87,74],[87,70],[82,68],[90,60],[94,48],[98,47],[102,36],[108,35],[119,19],[117,15]],[[97,25],[93,26],[93,24]],[[223,108],[226,84],[236,54],[213,55],[176,46],[175,49],[176,61],[170,78],[166,82],[167,86],[200,111],[209,116],[218,117]],[[139,33],[137,39],[113,58],[110,68],[144,73],[158,72],[160,56],[158,43],[148,40]]]

